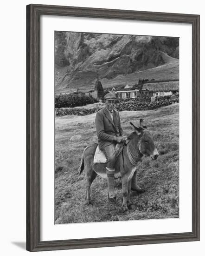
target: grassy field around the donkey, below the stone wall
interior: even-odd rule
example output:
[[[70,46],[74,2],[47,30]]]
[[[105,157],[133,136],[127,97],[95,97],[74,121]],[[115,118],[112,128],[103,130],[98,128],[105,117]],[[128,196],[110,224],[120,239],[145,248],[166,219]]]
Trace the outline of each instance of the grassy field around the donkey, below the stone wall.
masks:
[[[137,166],[143,194],[131,192],[135,209],[122,212],[122,182],[115,180],[117,200],[107,198],[107,180],[97,177],[91,186],[92,205],[84,201],[85,178],[77,169],[83,149],[96,142],[96,114],[56,117],[55,223],[107,222],[179,217],[179,104],[147,111],[120,112],[125,135],[143,118],[160,156],[142,157]],[[72,137],[79,135],[78,137]],[[70,140],[71,139],[71,140]],[[79,140],[79,141],[78,141]]]

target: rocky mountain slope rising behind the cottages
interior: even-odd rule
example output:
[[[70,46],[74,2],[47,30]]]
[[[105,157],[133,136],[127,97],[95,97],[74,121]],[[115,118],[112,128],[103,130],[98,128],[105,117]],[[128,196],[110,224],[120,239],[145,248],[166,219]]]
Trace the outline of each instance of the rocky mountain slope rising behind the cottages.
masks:
[[[56,92],[91,89],[96,75],[106,88],[161,74],[179,78],[179,38],[55,32]]]

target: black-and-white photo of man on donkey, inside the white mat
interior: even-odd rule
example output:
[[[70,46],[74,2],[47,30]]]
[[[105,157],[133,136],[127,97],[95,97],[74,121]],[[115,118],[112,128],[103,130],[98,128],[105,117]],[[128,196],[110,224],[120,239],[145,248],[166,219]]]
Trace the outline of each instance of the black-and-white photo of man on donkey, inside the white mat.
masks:
[[[179,37],[55,31],[55,224],[179,218]]]

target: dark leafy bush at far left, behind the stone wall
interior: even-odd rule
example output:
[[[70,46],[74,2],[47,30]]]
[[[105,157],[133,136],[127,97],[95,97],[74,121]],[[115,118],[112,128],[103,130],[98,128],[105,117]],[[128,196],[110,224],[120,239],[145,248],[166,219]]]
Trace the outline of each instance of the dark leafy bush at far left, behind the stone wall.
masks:
[[[55,108],[73,108],[97,102],[88,96],[78,94],[60,94],[55,97]]]

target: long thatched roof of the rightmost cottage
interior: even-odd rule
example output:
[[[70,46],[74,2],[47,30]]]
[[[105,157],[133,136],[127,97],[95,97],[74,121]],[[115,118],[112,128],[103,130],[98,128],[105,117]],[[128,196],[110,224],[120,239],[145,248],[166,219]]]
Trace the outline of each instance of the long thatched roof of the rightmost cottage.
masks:
[[[179,91],[179,81],[147,83],[147,84],[143,84],[141,89],[142,90],[149,90],[149,91],[152,91],[152,92]]]

